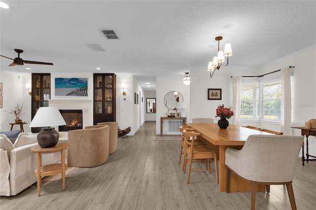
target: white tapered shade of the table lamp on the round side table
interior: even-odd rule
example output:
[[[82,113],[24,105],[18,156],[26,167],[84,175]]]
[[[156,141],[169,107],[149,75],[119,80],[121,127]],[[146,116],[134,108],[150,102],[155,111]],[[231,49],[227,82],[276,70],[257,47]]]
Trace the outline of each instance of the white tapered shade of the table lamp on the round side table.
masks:
[[[51,127],[66,125],[66,122],[55,106],[40,107],[29,127]]]

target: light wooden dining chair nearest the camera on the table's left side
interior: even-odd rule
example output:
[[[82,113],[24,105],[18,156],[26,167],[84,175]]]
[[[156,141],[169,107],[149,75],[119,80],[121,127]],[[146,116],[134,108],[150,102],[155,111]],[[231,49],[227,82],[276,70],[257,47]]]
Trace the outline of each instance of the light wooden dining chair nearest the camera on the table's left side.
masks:
[[[185,152],[183,162],[183,173],[186,173],[186,165],[189,163],[188,179],[187,183],[190,183],[191,172],[209,172],[215,171],[216,183],[218,183],[218,172],[217,172],[217,150],[207,144],[195,144],[195,137],[199,136],[200,133],[192,131],[190,129],[184,129],[182,131],[185,140]],[[201,159],[206,161],[206,169],[192,169],[192,163],[194,160],[200,162]],[[210,168],[210,160],[214,160],[215,170]]]

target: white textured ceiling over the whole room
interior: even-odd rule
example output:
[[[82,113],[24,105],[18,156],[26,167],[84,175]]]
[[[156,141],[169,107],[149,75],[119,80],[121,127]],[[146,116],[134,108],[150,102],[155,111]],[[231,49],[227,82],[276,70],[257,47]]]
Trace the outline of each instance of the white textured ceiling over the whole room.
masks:
[[[316,43],[316,1],[3,0],[0,54],[54,66],[25,64],[24,72],[114,72],[143,83],[156,76],[205,70],[230,42],[226,70],[259,68]],[[114,30],[107,39],[102,30]],[[93,51],[99,44],[105,51]],[[11,60],[0,59],[2,70]],[[29,67],[31,70],[25,70]],[[99,67],[101,70],[96,70]],[[205,75],[208,75],[207,73]]]

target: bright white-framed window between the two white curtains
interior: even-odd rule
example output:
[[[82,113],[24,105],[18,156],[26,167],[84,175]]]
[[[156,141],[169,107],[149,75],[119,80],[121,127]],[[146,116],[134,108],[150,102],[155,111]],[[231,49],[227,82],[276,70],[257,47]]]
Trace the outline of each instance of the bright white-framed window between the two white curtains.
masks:
[[[281,80],[245,81],[241,85],[240,119],[281,119]]]

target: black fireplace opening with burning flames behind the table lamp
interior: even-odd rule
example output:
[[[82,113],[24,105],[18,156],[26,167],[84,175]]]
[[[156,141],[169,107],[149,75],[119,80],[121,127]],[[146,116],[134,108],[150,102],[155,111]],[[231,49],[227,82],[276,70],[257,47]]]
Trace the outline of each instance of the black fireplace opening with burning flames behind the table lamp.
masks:
[[[61,110],[66,125],[59,126],[60,132],[67,132],[71,130],[82,129],[82,110]]]

